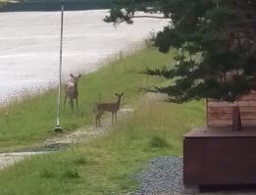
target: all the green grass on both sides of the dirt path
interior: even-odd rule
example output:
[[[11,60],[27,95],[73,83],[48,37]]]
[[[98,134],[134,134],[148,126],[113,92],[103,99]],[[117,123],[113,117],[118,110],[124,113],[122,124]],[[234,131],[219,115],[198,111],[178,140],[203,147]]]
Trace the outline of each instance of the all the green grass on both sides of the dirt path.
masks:
[[[181,155],[182,135],[205,122],[203,101],[183,105],[149,101],[137,91],[138,86],[166,81],[137,72],[171,62],[172,55],[162,55],[154,48],[147,48],[97,73],[83,75],[79,82],[81,112],[72,114],[67,109],[61,113],[66,129],[91,124],[93,105],[113,100],[114,92],[125,92],[122,105],[136,107],[133,115],[119,121],[102,137],[67,150],[26,158],[0,171],[0,194],[126,194],[137,187],[138,181],[130,174],[146,169],[142,163],[153,157]],[[55,91],[49,91],[1,111],[5,116],[0,119],[3,126],[1,146],[25,144],[51,136],[52,132],[47,130],[55,124],[55,100]]]

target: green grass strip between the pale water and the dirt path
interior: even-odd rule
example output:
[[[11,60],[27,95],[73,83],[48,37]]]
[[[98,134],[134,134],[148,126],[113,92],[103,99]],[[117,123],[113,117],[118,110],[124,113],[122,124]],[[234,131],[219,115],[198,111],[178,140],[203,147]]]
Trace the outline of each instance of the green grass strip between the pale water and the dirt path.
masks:
[[[116,101],[114,92],[125,92],[122,105],[132,105],[143,95],[137,87],[160,83],[164,78],[138,72],[147,67],[160,67],[172,63],[172,53],[163,55],[155,48],[138,51],[123,57],[95,73],[84,74],[78,82],[80,111],[72,113],[70,105],[63,111],[61,100],[61,126],[65,132],[82,125],[92,124],[92,109],[101,101]],[[105,63],[106,64],[106,63]],[[63,91],[63,90],[62,90]],[[42,95],[26,96],[25,100],[12,102],[0,110],[0,149],[35,144],[53,136],[56,125],[57,90],[51,89]]]

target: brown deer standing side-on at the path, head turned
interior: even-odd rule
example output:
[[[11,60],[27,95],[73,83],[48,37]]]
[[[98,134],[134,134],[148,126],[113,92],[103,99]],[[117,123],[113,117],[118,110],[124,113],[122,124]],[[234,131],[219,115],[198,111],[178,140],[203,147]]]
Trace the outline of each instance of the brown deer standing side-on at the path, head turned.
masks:
[[[114,117],[117,123],[117,112],[120,109],[121,98],[124,95],[124,92],[121,94],[115,93],[115,95],[118,97],[118,101],[116,103],[100,103],[95,106],[93,113],[95,115],[96,126],[101,126],[100,118],[104,114],[104,112],[112,113],[112,125],[113,125]]]

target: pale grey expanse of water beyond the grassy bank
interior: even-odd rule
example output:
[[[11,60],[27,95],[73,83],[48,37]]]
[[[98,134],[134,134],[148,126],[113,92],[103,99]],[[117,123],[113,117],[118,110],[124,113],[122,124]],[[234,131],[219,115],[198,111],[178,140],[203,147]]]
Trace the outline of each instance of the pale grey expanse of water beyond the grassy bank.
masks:
[[[90,73],[99,62],[143,41],[167,24],[137,19],[115,28],[102,19],[108,10],[66,11],[63,75]],[[61,12],[0,13],[0,101],[58,83]]]

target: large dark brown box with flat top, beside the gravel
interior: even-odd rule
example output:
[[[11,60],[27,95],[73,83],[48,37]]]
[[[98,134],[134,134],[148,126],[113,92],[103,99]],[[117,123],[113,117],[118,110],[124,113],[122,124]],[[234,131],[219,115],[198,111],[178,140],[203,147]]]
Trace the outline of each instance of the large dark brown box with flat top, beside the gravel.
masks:
[[[183,139],[185,185],[256,184],[256,127],[196,128]]]

